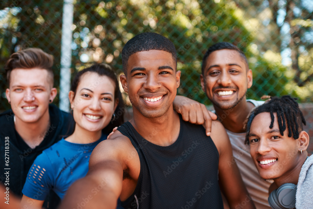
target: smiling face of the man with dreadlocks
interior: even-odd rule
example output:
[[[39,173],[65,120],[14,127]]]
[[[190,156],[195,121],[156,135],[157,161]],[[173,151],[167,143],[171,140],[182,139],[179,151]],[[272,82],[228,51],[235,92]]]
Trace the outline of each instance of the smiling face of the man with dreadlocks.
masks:
[[[292,175],[299,164],[301,154],[299,139],[288,137],[288,128],[282,136],[276,113],[274,117],[273,128],[269,128],[271,123],[269,112],[255,116],[251,123],[249,143],[251,157],[261,178],[277,180]]]

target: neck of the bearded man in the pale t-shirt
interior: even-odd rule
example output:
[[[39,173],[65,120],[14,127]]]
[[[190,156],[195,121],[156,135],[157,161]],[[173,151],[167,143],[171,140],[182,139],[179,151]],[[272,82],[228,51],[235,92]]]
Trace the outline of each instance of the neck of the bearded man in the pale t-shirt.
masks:
[[[244,122],[254,108],[254,105],[251,102],[247,102],[244,98],[238,103],[238,105],[228,110],[220,109],[216,105],[213,106],[215,113],[218,116],[218,120],[226,129],[234,133],[244,133],[246,131],[244,128]]]

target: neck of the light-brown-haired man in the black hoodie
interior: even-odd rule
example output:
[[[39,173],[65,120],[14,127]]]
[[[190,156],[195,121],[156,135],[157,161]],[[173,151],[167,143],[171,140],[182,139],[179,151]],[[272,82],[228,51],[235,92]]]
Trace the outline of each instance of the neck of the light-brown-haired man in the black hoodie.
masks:
[[[25,123],[15,116],[14,118],[15,130],[30,148],[34,149],[44,140],[46,131],[50,126],[50,115],[48,110],[35,123]]]

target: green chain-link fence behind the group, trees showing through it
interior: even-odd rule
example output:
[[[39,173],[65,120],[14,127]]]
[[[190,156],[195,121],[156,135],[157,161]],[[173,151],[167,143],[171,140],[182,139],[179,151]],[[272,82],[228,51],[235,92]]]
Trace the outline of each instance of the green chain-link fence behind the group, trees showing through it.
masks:
[[[253,71],[254,84],[247,97],[291,94],[309,103],[304,106],[312,130],[313,0],[76,0],[73,4],[72,73],[97,62],[110,64],[120,74],[124,44],[136,34],[156,32],[177,49],[177,69],[182,71],[178,94],[209,105],[200,86],[202,57],[212,44],[227,41],[244,51]],[[20,49],[38,47],[54,55],[54,86],[59,90],[62,8],[60,0],[2,1],[1,111],[10,108],[3,65]],[[59,104],[59,97],[54,103]]]

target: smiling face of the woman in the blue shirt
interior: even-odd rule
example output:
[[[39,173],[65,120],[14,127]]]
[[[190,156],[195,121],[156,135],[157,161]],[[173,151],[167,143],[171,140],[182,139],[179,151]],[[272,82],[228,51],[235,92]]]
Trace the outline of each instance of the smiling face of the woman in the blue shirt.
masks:
[[[69,92],[76,128],[99,131],[112,118],[117,101],[114,98],[115,84],[107,76],[86,72],[80,78],[76,94]]]

